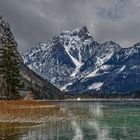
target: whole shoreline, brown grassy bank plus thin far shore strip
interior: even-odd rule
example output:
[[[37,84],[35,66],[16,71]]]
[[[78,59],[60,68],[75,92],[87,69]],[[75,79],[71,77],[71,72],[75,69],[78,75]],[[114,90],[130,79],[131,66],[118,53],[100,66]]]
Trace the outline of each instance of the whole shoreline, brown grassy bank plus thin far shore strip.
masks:
[[[40,124],[48,121],[69,120],[71,116],[59,103],[84,103],[84,102],[140,102],[132,98],[90,98],[90,99],[65,99],[65,100],[35,100],[35,101],[1,101],[0,123],[32,123]]]

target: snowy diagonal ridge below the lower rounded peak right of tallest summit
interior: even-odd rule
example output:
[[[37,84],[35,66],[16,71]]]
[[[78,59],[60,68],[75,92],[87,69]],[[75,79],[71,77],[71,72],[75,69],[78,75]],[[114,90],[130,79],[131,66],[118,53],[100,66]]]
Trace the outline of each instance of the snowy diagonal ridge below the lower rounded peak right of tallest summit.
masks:
[[[111,57],[120,50],[121,47],[112,41],[99,45],[96,54],[91,56],[81,67],[81,73],[84,76],[89,73],[94,73],[94,71],[110,60]]]

